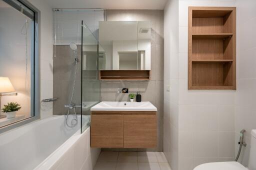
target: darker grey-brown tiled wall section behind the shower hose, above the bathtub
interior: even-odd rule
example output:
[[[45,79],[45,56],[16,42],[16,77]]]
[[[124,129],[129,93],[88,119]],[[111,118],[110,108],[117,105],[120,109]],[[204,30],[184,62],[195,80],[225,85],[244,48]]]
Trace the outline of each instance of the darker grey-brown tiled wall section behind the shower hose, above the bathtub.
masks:
[[[72,87],[75,75],[75,66],[77,66],[75,90],[73,103],[81,102],[81,63],[75,65],[74,53],[69,45],[53,45],[55,57],[53,58],[53,96],[58,100],[53,103],[53,114],[66,114],[70,102]],[[78,61],[81,60],[81,46],[77,46]],[[71,110],[73,113],[73,110]],[[76,109],[80,114],[80,109]]]

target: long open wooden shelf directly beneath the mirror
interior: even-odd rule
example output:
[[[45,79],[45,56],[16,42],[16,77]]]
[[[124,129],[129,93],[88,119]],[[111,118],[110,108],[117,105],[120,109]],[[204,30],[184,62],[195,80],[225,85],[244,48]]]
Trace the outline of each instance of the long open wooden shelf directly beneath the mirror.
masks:
[[[149,80],[150,70],[100,70],[100,80]]]

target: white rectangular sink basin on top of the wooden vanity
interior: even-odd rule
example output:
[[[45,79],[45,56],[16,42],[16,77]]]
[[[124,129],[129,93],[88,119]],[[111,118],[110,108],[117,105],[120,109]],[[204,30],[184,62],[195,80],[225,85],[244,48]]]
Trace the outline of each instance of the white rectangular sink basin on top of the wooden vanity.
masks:
[[[149,101],[101,101],[90,108],[91,111],[157,111]]]

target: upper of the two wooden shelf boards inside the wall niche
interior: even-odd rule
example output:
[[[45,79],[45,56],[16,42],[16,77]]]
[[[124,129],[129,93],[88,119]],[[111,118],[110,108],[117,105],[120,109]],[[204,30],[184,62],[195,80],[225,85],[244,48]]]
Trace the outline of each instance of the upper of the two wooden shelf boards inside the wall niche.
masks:
[[[225,39],[232,35],[232,33],[192,33],[192,39]]]

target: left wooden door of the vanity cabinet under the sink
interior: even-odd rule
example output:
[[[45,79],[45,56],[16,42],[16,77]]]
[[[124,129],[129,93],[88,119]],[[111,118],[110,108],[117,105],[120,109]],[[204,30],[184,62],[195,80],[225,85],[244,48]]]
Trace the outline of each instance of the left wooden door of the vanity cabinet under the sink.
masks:
[[[92,114],[91,147],[123,147],[123,115]]]

